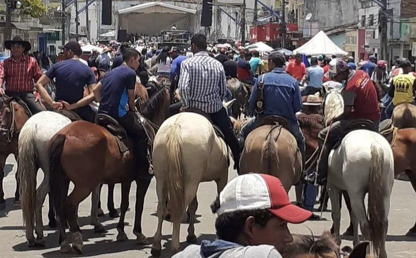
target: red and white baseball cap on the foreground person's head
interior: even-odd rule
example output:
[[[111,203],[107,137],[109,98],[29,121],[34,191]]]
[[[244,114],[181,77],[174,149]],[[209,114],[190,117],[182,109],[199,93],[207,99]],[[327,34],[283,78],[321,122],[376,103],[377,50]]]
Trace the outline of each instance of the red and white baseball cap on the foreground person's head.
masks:
[[[282,183],[265,174],[246,174],[231,180],[219,194],[218,215],[237,210],[267,209],[289,223],[302,223],[312,212],[289,201]]]

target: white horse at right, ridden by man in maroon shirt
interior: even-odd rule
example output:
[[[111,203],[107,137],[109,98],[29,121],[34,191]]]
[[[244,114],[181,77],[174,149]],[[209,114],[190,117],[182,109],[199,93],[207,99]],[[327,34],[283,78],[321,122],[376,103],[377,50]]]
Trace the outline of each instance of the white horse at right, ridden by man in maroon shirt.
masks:
[[[342,114],[344,102],[337,90],[331,90],[325,101],[326,119]],[[393,152],[380,134],[370,130],[348,133],[328,159],[328,193],[332,204],[334,233],[340,230],[340,191],[347,191],[352,205],[354,245],[360,240],[358,225],[364,238],[373,242],[376,256],[386,258],[385,241],[388,228],[390,194],[394,181]],[[368,214],[364,195],[368,193]]]

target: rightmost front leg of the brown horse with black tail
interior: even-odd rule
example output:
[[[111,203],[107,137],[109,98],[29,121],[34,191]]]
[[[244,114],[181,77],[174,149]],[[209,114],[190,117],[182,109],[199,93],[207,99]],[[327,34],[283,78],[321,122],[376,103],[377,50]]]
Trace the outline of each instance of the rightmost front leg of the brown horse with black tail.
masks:
[[[149,245],[149,240],[142,233],[142,215],[143,215],[143,206],[145,204],[145,196],[147,190],[149,189],[150,181],[152,179],[139,179],[136,180],[136,211],[134,218],[134,229],[133,234],[137,237],[136,242],[139,245]]]

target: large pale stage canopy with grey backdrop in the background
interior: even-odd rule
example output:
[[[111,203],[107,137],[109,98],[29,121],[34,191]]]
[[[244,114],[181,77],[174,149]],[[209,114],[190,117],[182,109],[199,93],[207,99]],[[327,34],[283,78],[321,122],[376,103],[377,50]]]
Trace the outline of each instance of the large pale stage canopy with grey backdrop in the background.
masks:
[[[164,3],[146,2],[118,11],[118,28],[127,33],[159,35],[176,24],[178,30],[194,31],[196,10]]]

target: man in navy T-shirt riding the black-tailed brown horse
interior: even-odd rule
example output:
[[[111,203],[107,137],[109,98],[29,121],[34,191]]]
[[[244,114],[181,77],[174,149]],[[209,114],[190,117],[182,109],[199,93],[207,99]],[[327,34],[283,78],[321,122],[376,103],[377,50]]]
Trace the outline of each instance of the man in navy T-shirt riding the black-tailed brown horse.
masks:
[[[140,65],[140,53],[132,48],[123,52],[123,64],[107,72],[94,89],[94,96],[100,102],[98,113],[111,116],[120,123],[133,139],[138,176],[149,178],[148,139],[135,113],[134,90],[136,70]]]

